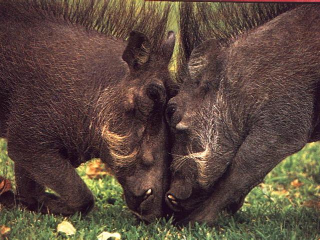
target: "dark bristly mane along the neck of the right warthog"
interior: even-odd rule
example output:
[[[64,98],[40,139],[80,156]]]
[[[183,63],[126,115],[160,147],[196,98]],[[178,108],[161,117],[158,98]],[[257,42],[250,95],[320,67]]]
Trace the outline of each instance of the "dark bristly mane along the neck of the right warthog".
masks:
[[[213,38],[220,45],[227,45],[241,33],[296,6],[292,3],[180,3],[176,81],[182,82],[190,54],[201,42]]]

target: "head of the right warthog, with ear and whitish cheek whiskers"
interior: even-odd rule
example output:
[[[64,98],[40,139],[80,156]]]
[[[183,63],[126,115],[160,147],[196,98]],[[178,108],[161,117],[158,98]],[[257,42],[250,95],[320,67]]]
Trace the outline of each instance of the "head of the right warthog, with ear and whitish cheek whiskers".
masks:
[[[220,149],[229,146],[220,138],[224,129],[221,129],[216,104],[220,97],[222,58],[215,40],[207,40],[196,47],[177,95],[167,103],[165,115],[172,136],[173,160],[171,184],[165,200],[181,215],[186,215],[207,198],[228,165],[225,163],[227,156],[221,157],[220,153]],[[209,162],[215,163],[214,168]],[[179,218],[179,214],[177,216]]]

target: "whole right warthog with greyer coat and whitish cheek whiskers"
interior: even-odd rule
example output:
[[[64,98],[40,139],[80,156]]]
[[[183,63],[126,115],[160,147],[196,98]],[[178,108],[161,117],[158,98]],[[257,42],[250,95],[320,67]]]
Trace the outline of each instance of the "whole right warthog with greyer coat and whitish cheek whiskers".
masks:
[[[173,141],[166,202],[180,223],[210,224],[225,208],[237,211],[282,159],[320,139],[320,5],[180,9],[189,61],[166,108]],[[216,19],[205,25],[200,16]],[[203,39],[210,24],[214,39]],[[198,40],[205,41],[191,52]]]

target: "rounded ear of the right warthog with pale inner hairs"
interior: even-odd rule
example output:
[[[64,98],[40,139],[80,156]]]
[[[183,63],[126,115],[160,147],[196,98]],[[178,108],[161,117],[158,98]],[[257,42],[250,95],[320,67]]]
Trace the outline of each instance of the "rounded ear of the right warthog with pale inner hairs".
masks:
[[[215,39],[208,39],[193,49],[188,61],[188,70],[192,81],[201,85],[208,81],[210,84],[218,84],[218,82],[214,82],[214,78],[219,72],[220,63],[217,60],[219,52]]]

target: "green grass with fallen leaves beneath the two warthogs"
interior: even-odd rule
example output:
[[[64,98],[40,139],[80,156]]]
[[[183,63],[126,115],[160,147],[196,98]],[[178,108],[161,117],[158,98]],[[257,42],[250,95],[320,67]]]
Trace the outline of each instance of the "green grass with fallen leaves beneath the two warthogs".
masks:
[[[110,176],[91,180],[85,167],[78,172],[95,195],[94,209],[86,216],[66,218],[76,233],[66,237],[57,234],[56,227],[64,218],[30,213],[25,210],[0,211],[0,226],[11,228],[10,240],[96,240],[103,231],[118,232],[126,240],[318,240],[320,239],[320,210],[302,206],[305,201],[320,197],[320,144],[308,144],[288,157],[267,175],[263,185],[253,189],[242,209],[234,216],[219,216],[213,228],[196,225],[177,229],[159,220],[145,225],[139,223],[121,198],[120,185]],[[0,140],[0,175],[14,183],[13,163],[8,159],[6,143]],[[300,187],[290,183],[298,179]],[[115,203],[108,204],[109,198]]]

